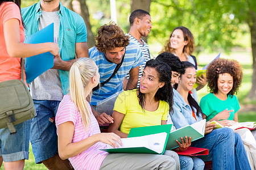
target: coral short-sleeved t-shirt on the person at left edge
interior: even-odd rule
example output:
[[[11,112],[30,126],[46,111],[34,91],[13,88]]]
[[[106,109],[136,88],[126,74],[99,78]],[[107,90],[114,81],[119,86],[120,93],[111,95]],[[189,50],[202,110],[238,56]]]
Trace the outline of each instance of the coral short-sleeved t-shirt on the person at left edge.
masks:
[[[20,58],[10,57],[7,53],[3,35],[3,24],[9,19],[19,20],[20,42],[25,39],[19,7],[13,2],[3,2],[0,5],[0,82],[21,78]],[[25,76],[25,75],[24,75]]]

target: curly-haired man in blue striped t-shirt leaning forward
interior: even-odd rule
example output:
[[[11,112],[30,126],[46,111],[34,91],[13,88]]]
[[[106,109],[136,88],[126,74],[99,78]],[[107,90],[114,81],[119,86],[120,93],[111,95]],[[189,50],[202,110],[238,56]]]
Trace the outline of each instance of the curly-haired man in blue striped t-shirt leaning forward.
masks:
[[[141,48],[136,42],[129,40],[129,36],[126,36],[117,24],[110,22],[98,29],[96,46],[89,49],[89,58],[98,66],[101,83],[100,88],[94,89],[90,104],[97,112],[112,114],[115,98],[122,91],[126,74],[130,74],[126,90],[137,87],[139,66],[144,62]],[[113,74],[114,70],[118,71]],[[108,79],[109,81],[106,81]],[[100,109],[102,104],[99,103],[105,101],[111,102],[104,104],[104,108]],[[99,114],[94,111],[93,113],[100,124],[112,122],[106,115],[98,118]]]

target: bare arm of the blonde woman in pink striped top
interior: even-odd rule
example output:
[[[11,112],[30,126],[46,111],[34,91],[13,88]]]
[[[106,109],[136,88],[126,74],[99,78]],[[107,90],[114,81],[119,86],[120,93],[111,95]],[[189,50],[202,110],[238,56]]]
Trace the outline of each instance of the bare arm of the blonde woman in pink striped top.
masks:
[[[60,158],[63,160],[80,154],[97,142],[103,142],[111,145],[112,147],[118,147],[115,142],[117,141],[122,145],[120,137],[114,133],[98,133],[82,141],[72,143],[74,130],[75,125],[70,121],[58,126],[58,150]]]

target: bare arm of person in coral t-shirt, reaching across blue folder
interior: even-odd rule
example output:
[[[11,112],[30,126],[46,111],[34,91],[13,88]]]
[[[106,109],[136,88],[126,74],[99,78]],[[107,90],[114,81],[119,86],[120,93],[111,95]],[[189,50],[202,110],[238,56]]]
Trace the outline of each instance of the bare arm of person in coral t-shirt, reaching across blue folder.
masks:
[[[53,42],[25,44],[20,42],[19,20],[9,19],[3,24],[7,53],[11,57],[31,57],[50,52],[53,56],[59,53],[59,46]]]

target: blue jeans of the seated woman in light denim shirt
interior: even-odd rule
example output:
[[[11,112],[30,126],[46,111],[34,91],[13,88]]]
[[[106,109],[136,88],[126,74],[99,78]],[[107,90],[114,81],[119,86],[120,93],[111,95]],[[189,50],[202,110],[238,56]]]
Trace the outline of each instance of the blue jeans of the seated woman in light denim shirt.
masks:
[[[191,146],[208,148],[209,155],[198,157],[212,160],[213,169],[251,169],[240,135],[230,128],[214,129]]]

